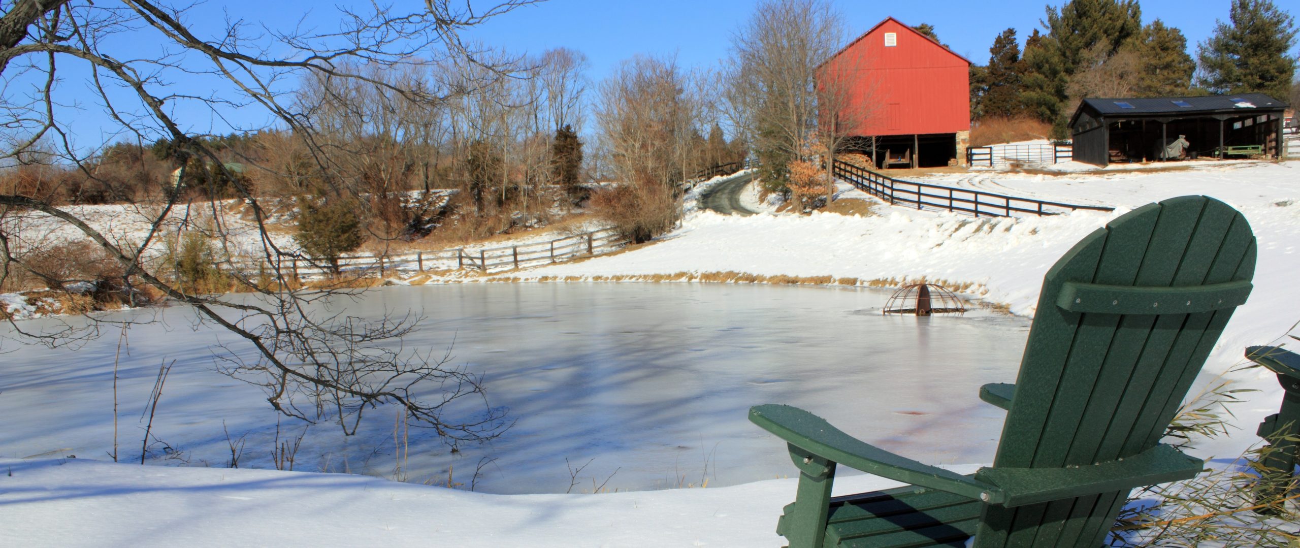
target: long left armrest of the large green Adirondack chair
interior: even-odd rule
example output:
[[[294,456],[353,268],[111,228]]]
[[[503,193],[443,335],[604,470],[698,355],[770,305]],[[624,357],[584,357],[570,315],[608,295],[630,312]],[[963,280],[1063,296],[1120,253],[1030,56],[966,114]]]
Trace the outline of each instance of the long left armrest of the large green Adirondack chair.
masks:
[[[758,405],[749,409],[749,420],[810,453],[809,457],[816,456],[881,478],[985,502],[1002,501],[1002,493],[994,486],[866,444],[798,407]]]

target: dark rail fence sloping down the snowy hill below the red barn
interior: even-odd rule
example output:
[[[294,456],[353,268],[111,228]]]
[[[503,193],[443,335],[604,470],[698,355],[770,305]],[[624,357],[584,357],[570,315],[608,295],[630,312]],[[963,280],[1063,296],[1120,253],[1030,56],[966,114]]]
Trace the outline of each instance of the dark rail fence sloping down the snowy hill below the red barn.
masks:
[[[1013,212],[1039,216],[1057,215],[1062,212],[1061,210],[1114,211],[1113,207],[1104,206],[1046,202],[953,186],[901,181],[840,160],[835,161],[835,176],[867,194],[889,202],[890,206],[915,206],[918,210],[932,207],[970,213],[976,217],[1009,217]]]

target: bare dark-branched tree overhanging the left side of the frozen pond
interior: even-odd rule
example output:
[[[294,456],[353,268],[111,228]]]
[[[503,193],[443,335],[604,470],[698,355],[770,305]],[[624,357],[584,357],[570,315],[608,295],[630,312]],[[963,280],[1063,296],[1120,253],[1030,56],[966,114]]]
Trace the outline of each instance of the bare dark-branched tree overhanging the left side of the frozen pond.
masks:
[[[70,130],[78,111],[66,107],[74,103],[69,90],[88,87],[96,94],[91,104],[98,103],[117,124],[116,139],[136,146],[159,142],[156,150],[178,165],[179,174],[152,181],[152,190],[143,197],[126,197],[130,219],[116,219],[116,225],[60,207],[46,194],[0,194],[0,282],[20,272],[48,273],[36,259],[48,251],[49,236],[73,230],[117,266],[116,272],[99,280],[114,292],[129,295],[152,292],[237,335],[240,346],[220,354],[226,371],[264,387],[270,405],[286,415],[306,420],[326,417],[351,433],[361,410],[391,404],[406,407],[421,426],[436,430],[448,443],[495,436],[503,428],[499,413],[488,409],[471,415],[447,407],[452,401],[480,394],[478,379],[447,367],[446,357],[430,358],[400,345],[400,338],[419,323],[417,318],[391,314],[361,319],[330,312],[328,306],[318,305],[346,299],[347,292],[296,284],[287,264],[304,256],[287,249],[285,240],[268,229],[268,208],[250,187],[248,178],[239,177],[231,163],[217,154],[211,135],[192,131],[195,120],[177,115],[190,111],[173,107],[202,107],[208,112],[203,121],[225,117],[233,109],[259,109],[273,122],[266,128],[238,129],[274,129],[281,139],[296,143],[300,161],[294,164],[315,167],[309,169],[312,185],[342,194],[350,191],[347,177],[361,177],[350,172],[360,169],[374,173],[377,182],[354,186],[352,193],[389,193],[406,184],[408,159],[348,165],[343,163],[347,155],[337,154],[339,147],[381,146],[385,138],[381,135],[393,139],[394,131],[395,139],[432,131],[430,125],[437,122],[428,117],[421,121],[424,126],[406,124],[408,109],[446,107],[512,77],[508,62],[467,46],[459,31],[530,3],[503,0],[480,9],[478,4],[426,0],[413,13],[385,7],[369,12],[341,9],[339,26],[333,31],[251,29],[234,20],[216,34],[199,33],[186,23],[191,7],[150,0],[112,5],[88,0],[5,3],[0,14],[0,74],[8,85],[0,89],[0,131],[9,147],[3,158],[12,163],[48,144],[60,163],[74,167],[91,184],[112,190],[116,180],[104,177],[99,169],[104,150],[78,146]],[[156,55],[113,49],[124,43],[156,44]],[[452,83],[424,77],[452,65],[473,66],[474,72]],[[83,73],[88,74],[84,79],[77,77]],[[294,82],[321,82],[321,90],[344,94],[341,96],[368,96],[339,102],[339,108],[367,102],[378,108],[367,113],[364,124],[369,126],[347,126],[356,122],[347,120],[348,112],[330,118],[306,109],[320,103],[300,102],[292,92]],[[321,125],[325,120],[339,126]],[[334,129],[346,138],[341,139]],[[277,169],[250,164],[256,169]],[[239,211],[256,226],[254,234],[235,233],[229,203],[216,197],[194,199],[196,194],[183,184],[190,165],[225,174],[233,195],[243,204]],[[399,169],[394,171],[394,165]],[[200,215],[204,221],[195,223]],[[130,234],[112,229],[127,223],[142,229]],[[251,294],[194,294],[169,277],[160,241],[182,230],[200,230],[209,238],[213,260],[226,266],[234,282]],[[229,268],[231,260],[240,258],[257,259],[265,267],[261,276]],[[49,345],[91,336],[95,329],[91,324],[88,332],[68,327],[35,333],[9,322],[16,332]],[[308,402],[316,407],[315,414]],[[333,413],[322,413],[322,402],[329,402]]]

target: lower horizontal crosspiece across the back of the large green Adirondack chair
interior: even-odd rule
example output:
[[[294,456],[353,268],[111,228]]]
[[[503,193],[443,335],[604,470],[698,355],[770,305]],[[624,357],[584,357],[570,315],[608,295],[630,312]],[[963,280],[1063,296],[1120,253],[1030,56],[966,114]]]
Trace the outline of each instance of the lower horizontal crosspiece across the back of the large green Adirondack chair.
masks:
[[[1057,499],[1176,482],[1200,474],[1205,461],[1169,445],[1156,445],[1132,457],[1065,469],[979,469],[975,479],[997,486],[1002,505],[1022,506]]]

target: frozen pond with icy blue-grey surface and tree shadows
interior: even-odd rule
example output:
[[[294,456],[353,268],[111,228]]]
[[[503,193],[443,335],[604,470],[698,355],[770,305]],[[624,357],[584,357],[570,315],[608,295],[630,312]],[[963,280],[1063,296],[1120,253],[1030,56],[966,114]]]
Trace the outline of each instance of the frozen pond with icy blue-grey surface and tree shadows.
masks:
[[[768,402],[807,409],[923,462],[989,462],[1002,411],[983,404],[978,390],[1015,380],[1028,320],[982,311],[883,316],[885,297],[868,289],[694,284],[378,289],[347,312],[422,312],[425,328],[406,346],[441,355],[455,338],[452,363],[482,374],[490,404],[508,407],[517,422],[503,437],[455,453],[412,428],[410,458],[396,471],[395,410],[381,407],[368,411],[358,436],[344,437],[333,424],[307,428],[295,470],[446,484],[450,469],[451,482],[469,488],[478,469],[476,489],[497,493],[789,476],[796,470],[785,444],[746,419],[749,406]],[[226,466],[230,432],[243,437],[240,466],[273,467],[277,414],[256,387],[213,371],[209,346],[234,337],[194,329],[183,308],[160,318],[133,329],[124,348],[121,459],[139,462],[140,410],[159,364],[176,359],[153,424],[174,450],[155,445],[151,461]],[[22,325],[42,322],[48,320]],[[0,456],[109,458],[117,333],[77,351],[18,345],[4,333]],[[304,430],[289,419],[281,428],[282,439]]]

